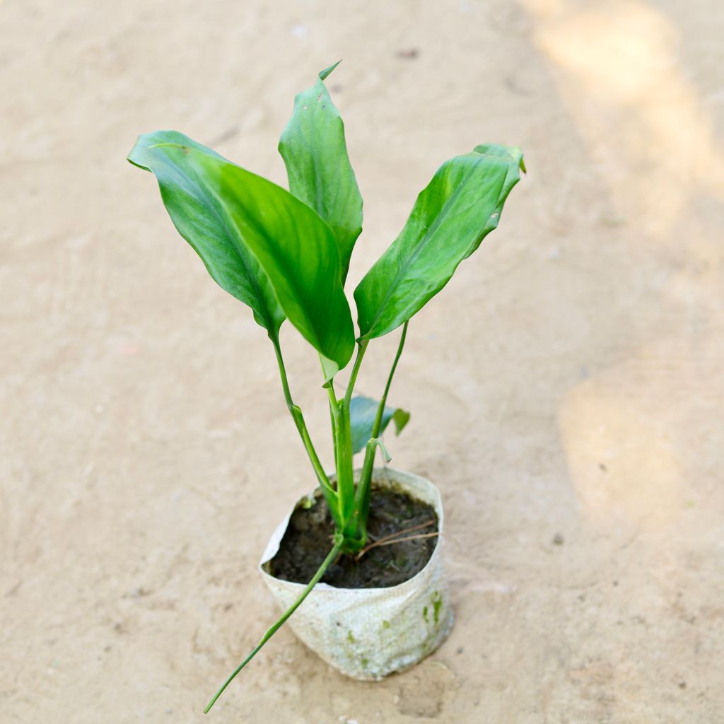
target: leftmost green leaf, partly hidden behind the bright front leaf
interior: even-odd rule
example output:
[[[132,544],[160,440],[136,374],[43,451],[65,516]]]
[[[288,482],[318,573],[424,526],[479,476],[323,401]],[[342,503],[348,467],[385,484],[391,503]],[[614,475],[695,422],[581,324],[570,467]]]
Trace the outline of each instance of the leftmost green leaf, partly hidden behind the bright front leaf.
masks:
[[[190,138],[174,131],[159,131],[138,138],[128,160],[156,175],[169,216],[180,235],[201,257],[211,278],[222,289],[247,304],[257,324],[274,337],[285,320],[285,313],[266,276],[251,251],[217,213],[218,203],[203,178],[179,163],[179,154],[158,148],[157,143],[182,143],[188,148],[216,156]],[[216,156],[221,159],[221,156]]]

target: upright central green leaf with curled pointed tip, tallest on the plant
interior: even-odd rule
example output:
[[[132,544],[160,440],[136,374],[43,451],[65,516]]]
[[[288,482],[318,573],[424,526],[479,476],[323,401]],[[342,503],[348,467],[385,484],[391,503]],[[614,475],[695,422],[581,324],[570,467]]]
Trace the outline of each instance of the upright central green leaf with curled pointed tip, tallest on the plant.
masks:
[[[342,284],[362,231],[362,196],[350,164],[345,127],[324,85],[338,63],[294,100],[294,111],[279,139],[289,190],[332,227],[340,251]]]

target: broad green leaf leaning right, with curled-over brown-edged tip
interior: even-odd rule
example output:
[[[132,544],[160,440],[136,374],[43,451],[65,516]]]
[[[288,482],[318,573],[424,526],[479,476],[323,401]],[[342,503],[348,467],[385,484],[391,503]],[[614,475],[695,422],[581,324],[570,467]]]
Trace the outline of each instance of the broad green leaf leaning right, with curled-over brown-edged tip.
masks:
[[[355,289],[361,339],[397,329],[447,284],[494,228],[513,164],[510,154],[475,151],[442,164],[400,235]]]

